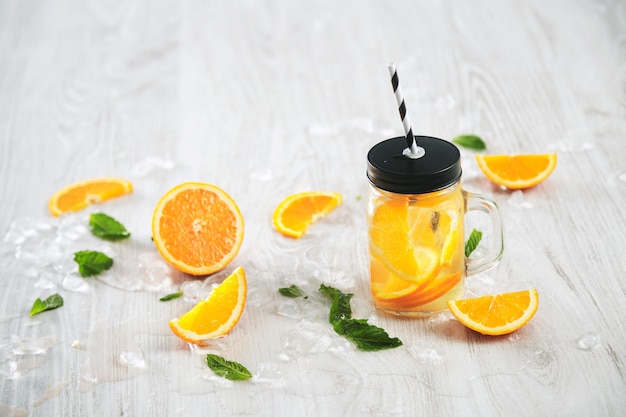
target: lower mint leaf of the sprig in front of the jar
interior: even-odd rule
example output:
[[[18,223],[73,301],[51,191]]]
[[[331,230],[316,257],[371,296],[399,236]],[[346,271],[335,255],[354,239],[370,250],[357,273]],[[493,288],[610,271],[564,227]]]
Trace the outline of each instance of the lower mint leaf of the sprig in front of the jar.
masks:
[[[400,339],[389,337],[385,330],[369,324],[367,320],[339,320],[333,325],[333,328],[337,334],[351,340],[358,349],[366,352],[402,346]]]

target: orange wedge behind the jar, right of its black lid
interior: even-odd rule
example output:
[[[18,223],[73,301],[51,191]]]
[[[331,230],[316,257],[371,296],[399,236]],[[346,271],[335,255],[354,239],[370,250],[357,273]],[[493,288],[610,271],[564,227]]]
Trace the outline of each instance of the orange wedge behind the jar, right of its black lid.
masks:
[[[533,187],[552,174],[556,153],[525,155],[476,155],[481,171],[492,182],[511,190]]]

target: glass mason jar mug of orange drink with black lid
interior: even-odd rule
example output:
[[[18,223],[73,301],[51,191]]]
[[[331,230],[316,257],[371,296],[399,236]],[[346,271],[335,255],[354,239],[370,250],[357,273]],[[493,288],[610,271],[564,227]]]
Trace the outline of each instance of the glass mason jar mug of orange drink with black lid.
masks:
[[[450,142],[416,137],[424,153],[403,153],[405,138],[368,154],[367,218],[370,291],[384,311],[422,316],[463,296],[467,273],[494,266],[502,254],[502,226],[494,202],[461,187],[460,153]],[[494,247],[473,265],[464,252],[465,213],[491,217]]]

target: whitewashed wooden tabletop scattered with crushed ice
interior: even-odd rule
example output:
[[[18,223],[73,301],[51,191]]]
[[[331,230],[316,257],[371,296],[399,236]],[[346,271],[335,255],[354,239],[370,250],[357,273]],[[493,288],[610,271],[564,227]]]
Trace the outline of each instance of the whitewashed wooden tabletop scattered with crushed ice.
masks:
[[[0,415],[623,416],[625,52],[623,1],[0,2]],[[506,244],[468,294],[540,294],[510,336],[373,309],[365,156],[402,135],[391,61],[416,133],[558,152],[547,181],[514,193],[463,153],[465,187],[499,203]],[[135,191],[47,213],[58,188],[98,176]],[[246,222],[238,256],[206,280],[150,240],[157,200],[184,181],[220,186]],[[344,204],[299,241],[276,233],[276,204],[315,189]],[[94,211],[131,239],[91,236]],[[114,268],[78,278],[71,254],[86,248]],[[180,342],[168,320],[239,265],[235,330],[209,349]],[[403,346],[364,353],[333,333],[321,283]],[[278,294],[291,284],[309,298]],[[28,317],[55,292],[62,308]],[[215,377],[208,352],[253,378]]]

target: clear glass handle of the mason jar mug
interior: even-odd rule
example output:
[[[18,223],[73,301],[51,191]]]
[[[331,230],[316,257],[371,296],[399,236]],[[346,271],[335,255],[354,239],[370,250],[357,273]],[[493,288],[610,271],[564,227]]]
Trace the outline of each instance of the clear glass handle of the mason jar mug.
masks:
[[[492,245],[487,254],[481,258],[465,258],[465,274],[467,276],[478,274],[493,268],[502,259],[504,252],[504,237],[502,232],[502,217],[500,209],[495,201],[480,194],[463,191],[465,198],[465,211],[480,211],[489,216],[491,220]]]

